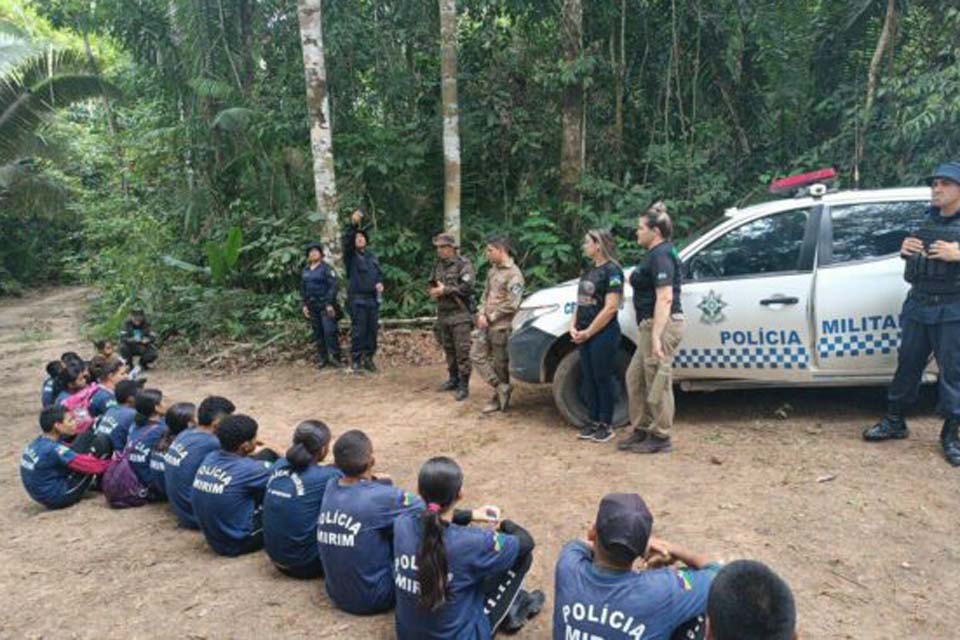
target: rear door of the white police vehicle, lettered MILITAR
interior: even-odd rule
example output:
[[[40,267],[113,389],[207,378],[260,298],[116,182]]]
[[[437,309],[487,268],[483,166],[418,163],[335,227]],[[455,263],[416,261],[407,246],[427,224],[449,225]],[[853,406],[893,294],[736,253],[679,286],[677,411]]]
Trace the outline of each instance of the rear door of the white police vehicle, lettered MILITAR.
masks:
[[[928,204],[842,204],[824,212],[814,294],[818,376],[893,374],[909,289],[900,245]]]

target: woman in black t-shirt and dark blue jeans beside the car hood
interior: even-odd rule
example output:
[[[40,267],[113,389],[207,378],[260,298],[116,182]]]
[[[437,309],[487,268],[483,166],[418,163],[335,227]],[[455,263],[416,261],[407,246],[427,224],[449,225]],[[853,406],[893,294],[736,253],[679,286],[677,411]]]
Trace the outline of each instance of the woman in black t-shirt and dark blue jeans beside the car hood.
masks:
[[[610,423],[617,390],[617,311],[623,297],[623,269],[617,262],[617,244],[609,231],[588,231],[583,252],[593,261],[593,267],[580,278],[577,308],[570,325],[570,338],[580,348],[584,396],[590,413],[579,438],[606,442],[613,437]]]

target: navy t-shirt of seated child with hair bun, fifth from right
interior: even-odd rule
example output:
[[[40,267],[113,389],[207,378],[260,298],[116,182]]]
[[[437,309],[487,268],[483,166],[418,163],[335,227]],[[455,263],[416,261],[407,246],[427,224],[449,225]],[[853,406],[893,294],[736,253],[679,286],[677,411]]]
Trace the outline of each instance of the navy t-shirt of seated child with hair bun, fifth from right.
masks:
[[[297,471],[281,458],[263,496],[263,546],[276,564],[302,567],[317,561],[317,518],[327,483],[342,478],[336,467],[312,464]]]

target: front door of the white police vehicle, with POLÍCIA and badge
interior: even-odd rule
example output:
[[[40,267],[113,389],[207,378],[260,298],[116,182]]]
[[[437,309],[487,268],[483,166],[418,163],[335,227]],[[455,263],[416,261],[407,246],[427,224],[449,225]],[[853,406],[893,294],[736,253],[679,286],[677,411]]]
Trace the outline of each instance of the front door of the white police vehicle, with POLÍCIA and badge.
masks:
[[[809,379],[821,210],[748,218],[685,258],[678,379]]]

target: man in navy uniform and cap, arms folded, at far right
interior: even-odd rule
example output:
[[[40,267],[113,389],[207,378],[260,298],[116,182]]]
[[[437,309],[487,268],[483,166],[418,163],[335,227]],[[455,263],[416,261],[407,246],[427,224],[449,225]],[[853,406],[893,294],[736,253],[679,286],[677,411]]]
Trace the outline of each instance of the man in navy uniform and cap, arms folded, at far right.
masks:
[[[887,392],[889,408],[864,430],[870,442],[906,438],[903,412],[917,400],[930,353],[940,369],[938,411],[944,417],[940,444],[947,461],[960,466],[960,162],[937,167],[928,179],[932,206],[926,223],[903,241],[905,278],[912,285],[901,315],[897,372]]]

